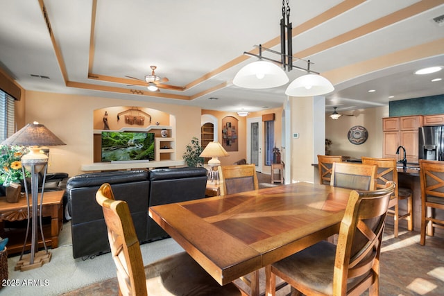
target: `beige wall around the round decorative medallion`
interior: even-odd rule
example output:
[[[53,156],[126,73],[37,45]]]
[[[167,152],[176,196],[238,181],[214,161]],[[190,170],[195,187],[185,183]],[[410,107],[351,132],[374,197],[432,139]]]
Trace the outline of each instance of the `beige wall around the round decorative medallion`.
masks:
[[[388,106],[341,113],[354,116],[343,115],[336,120],[325,117],[325,137],[333,142],[331,155],[382,157],[382,118],[388,116]],[[367,141],[360,145],[348,141],[348,131],[355,125],[368,131]]]

